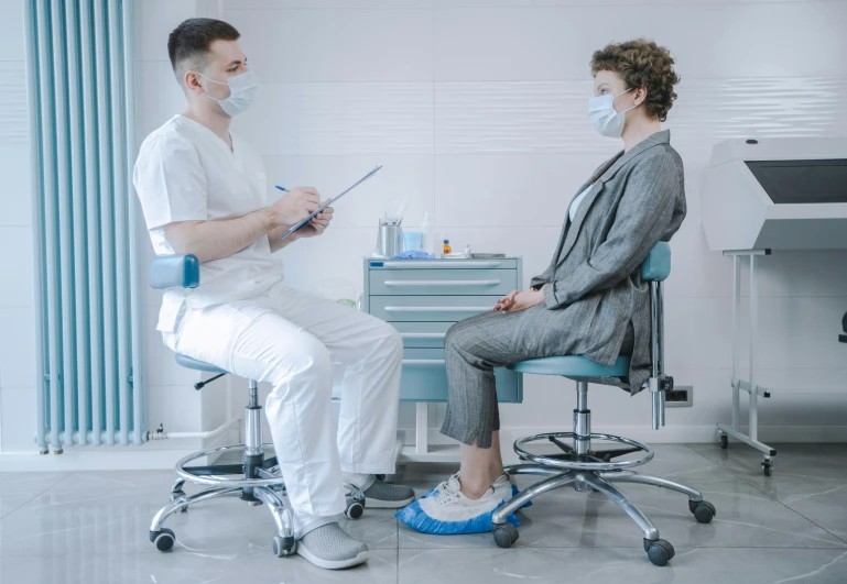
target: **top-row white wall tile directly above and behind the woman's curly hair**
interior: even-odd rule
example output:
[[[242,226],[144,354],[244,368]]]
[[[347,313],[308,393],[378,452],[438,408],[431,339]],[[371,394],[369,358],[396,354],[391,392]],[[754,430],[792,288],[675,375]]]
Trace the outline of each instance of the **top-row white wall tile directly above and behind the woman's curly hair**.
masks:
[[[436,8],[435,79],[585,79],[593,51],[637,35],[671,47],[692,79],[832,76],[847,65],[843,2],[519,3]]]

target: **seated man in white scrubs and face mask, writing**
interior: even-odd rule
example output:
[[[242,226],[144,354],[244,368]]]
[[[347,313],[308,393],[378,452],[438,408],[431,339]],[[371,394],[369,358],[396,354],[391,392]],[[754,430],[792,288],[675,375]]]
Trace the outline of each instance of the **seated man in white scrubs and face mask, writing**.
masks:
[[[394,472],[402,342],[379,319],[283,284],[271,254],[323,233],[333,210],[280,241],[317,209],[318,192],[297,187],[273,200],[262,159],[230,132],[258,89],[238,37],[225,22],[191,19],[167,43],[187,108],[146,137],[133,180],[155,253],[196,255],[200,286],[169,289],[158,329],[175,352],[273,385],[265,411],[297,552],[346,568],[367,561],[368,548],[337,522],[343,483],[361,487],[368,508],[414,499],[374,476]],[[337,432],[334,361],[345,370]]]

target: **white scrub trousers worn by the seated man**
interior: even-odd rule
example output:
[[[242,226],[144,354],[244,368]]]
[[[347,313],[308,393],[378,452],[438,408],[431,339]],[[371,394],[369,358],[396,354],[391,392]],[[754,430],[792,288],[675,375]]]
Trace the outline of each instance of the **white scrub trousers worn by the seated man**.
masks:
[[[393,327],[282,284],[184,310],[175,331],[163,333],[172,351],[273,385],[265,414],[296,511],[343,513],[341,471],[394,472],[403,345]],[[337,432],[333,362],[344,367]]]

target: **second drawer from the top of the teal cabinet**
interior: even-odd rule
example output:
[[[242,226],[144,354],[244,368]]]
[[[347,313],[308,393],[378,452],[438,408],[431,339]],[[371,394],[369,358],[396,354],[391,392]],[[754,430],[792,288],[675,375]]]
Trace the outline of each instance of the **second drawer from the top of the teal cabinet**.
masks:
[[[500,296],[371,296],[370,313],[387,322],[458,322],[493,310]]]

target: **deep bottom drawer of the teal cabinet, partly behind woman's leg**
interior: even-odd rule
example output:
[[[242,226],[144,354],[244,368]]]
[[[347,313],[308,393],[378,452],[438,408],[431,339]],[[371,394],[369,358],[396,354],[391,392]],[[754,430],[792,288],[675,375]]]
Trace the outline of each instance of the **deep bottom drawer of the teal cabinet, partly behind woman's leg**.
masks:
[[[496,368],[497,400],[523,400],[523,377],[507,368]],[[400,378],[401,401],[446,401],[447,370],[443,349],[405,349]]]

